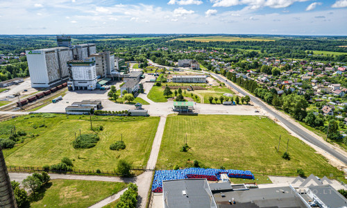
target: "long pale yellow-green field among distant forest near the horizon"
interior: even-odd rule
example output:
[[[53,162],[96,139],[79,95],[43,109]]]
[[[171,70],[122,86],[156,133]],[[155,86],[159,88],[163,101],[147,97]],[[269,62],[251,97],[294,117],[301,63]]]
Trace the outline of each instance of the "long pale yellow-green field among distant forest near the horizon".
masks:
[[[174,40],[196,41],[196,42],[275,41],[272,38],[265,38],[265,37],[232,37],[232,36],[182,37],[182,38],[176,38]],[[171,40],[171,41],[174,41],[174,40]]]

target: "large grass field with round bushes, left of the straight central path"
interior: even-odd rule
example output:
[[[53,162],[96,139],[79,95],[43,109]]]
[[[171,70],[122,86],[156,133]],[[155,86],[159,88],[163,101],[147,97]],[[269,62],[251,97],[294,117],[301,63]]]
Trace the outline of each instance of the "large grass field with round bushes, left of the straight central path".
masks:
[[[119,159],[126,159],[133,166],[146,165],[158,117],[93,116],[93,126],[104,128],[98,131],[100,140],[93,148],[76,150],[71,144],[75,133],[81,130],[82,134],[94,134],[89,119],[89,116],[79,115],[35,114],[2,122],[0,138],[8,138],[13,125],[27,133],[19,138],[14,148],[3,150],[6,164],[42,167],[58,164],[62,157],[69,157],[74,168],[82,170],[113,171]],[[40,127],[42,125],[46,127]],[[110,150],[110,145],[120,140],[121,135],[126,149]]]

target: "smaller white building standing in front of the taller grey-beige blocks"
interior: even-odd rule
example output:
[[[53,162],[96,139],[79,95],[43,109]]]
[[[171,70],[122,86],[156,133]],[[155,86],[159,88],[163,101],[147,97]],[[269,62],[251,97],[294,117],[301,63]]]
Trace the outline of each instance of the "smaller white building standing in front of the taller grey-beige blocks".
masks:
[[[96,88],[96,66],[95,58],[84,58],[83,60],[71,60],[67,62],[69,67],[69,90]]]

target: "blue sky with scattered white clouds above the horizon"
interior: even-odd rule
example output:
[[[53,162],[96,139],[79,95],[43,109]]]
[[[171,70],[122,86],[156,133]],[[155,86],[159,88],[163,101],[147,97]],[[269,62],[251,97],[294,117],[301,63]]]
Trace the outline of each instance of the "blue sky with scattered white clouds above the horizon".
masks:
[[[347,0],[2,0],[0,8],[0,34],[347,35]]]

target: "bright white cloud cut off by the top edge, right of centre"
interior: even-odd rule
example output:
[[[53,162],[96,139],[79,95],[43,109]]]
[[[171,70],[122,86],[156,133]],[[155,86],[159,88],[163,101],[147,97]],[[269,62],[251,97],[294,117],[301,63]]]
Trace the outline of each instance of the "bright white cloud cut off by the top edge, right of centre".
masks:
[[[229,7],[237,5],[246,5],[249,9],[257,9],[268,6],[270,8],[287,8],[295,2],[303,2],[309,0],[210,0],[213,7]],[[347,0],[346,0],[347,1]]]

